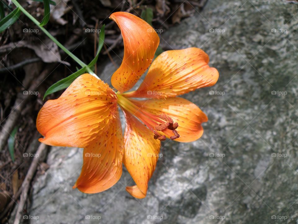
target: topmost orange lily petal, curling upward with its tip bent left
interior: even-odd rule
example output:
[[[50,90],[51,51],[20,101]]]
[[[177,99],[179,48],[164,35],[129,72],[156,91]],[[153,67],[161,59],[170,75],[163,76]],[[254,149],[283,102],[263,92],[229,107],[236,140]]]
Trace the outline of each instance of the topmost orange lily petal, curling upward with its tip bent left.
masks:
[[[124,41],[123,61],[111,82],[115,89],[124,92],[138,82],[151,64],[159,37],[147,22],[128,12],[114,12],[110,19],[119,26]]]

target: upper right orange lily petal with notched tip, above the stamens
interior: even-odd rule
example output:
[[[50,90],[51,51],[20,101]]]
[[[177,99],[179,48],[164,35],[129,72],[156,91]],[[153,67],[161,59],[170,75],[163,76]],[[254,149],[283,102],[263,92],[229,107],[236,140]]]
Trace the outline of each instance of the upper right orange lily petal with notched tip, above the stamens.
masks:
[[[125,94],[127,97],[165,98],[213,86],[219,73],[208,63],[208,55],[198,48],[165,51],[153,61],[140,87]]]

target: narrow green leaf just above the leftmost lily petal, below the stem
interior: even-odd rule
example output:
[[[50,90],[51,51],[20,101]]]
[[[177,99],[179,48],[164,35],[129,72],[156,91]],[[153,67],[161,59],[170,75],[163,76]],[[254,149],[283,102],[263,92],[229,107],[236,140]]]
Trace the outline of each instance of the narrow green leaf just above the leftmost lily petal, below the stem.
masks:
[[[58,82],[56,82],[55,84],[53,84],[52,86],[50,86],[47,91],[45,92],[43,99],[54,92],[57,92],[59,90],[62,89],[66,89],[68,86],[70,86],[70,84],[80,75],[84,74],[86,72],[86,67],[81,68],[79,71],[76,71],[75,73],[71,74],[70,76],[59,80]]]

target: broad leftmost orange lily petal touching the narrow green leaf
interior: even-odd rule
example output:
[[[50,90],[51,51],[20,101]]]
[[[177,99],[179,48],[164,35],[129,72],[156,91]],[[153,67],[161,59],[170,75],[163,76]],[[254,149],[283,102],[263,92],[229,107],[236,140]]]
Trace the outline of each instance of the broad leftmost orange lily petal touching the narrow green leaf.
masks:
[[[39,111],[36,127],[53,146],[86,147],[115,117],[117,96],[104,82],[83,74]]]

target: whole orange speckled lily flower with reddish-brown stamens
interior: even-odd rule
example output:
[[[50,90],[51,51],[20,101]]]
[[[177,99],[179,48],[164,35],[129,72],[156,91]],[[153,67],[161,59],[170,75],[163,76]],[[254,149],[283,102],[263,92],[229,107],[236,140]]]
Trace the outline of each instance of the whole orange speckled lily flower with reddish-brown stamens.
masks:
[[[136,183],[126,190],[144,198],[160,141],[195,141],[203,134],[201,124],[208,120],[195,104],[177,96],[214,85],[219,74],[198,48],[165,51],[151,64],[159,45],[153,28],[126,12],[115,12],[110,18],[124,40],[122,64],[111,78],[118,92],[83,74],[58,99],[44,104],[36,126],[44,136],[40,142],[84,148],[84,163],[74,188],[84,193],[110,188],[120,179],[123,162]],[[139,88],[127,92],[150,64]],[[117,105],[126,118],[124,137]]]

